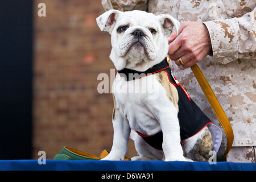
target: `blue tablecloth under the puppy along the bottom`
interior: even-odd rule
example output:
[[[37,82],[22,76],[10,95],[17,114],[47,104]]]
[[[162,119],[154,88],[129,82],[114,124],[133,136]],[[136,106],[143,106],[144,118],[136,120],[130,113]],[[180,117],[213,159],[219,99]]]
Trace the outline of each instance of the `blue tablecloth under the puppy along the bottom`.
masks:
[[[84,170],[84,171],[212,171],[240,170],[256,171],[255,163],[217,162],[163,162],[163,161],[100,161],[100,160],[0,160],[0,170]]]

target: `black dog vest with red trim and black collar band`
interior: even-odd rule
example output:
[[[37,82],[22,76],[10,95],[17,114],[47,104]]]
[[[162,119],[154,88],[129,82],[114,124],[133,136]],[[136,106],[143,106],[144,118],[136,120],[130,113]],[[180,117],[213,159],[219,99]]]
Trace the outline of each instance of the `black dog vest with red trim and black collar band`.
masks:
[[[201,109],[195,104],[195,102],[189,97],[185,89],[179,84],[176,78],[171,75],[170,65],[167,63],[167,58],[161,63],[154,65],[154,67],[148,69],[145,72],[137,72],[131,69],[122,69],[118,71],[121,77],[125,77],[126,81],[135,80],[143,76],[148,76],[160,71],[166,72],[170,82],[175,85],[179,95],[179,123],[180,123],[180,138],[181,140],[192,137],[202,130],[205,126],[212,123],[210,119],[201,111]],[[163,133],[159,133],[151,136],[143,135],[136,131],[150,146],[162,150]],[[182,144],[182,142],[181,142]]]

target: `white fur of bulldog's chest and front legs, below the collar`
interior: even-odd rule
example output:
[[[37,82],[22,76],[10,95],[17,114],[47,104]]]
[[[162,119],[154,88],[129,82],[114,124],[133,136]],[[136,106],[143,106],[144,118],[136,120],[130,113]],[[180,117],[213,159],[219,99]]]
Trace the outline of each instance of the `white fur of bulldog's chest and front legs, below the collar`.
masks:
[[[146,88],[142,88],[143,82]],[[115,78],[113,84],[116,107],[119,110],[118,118],[113,120],[114,141],[110,154],[104,160],[122,160],[127,152],[130,129],[145,135],[153,135],[163,131],[163,152],[166,161],[185,160],[180,145],[180,127],[177,119],[177,109],[166,96],[166,90],[159,83],[157,74],[143,77],[133,81],[125,78]],[[154,90],[154,92],[152,92]],[[154,99],[148,97],[155,95]],[[138,134],[137,134],[138,135]],[[163,158],[162,152],[151,155],[147,143],[141,137],[134,138],[135,147],[140,157],[136,160],[159,160]],[[138,143],[144,143],[143,145]],[[144,147],[147,146],[147,147]],[[150,147],[151,150],[157,151]],[[122,157],[120,157],[122,156]],[[151,156],[151,158],[149,157]]]

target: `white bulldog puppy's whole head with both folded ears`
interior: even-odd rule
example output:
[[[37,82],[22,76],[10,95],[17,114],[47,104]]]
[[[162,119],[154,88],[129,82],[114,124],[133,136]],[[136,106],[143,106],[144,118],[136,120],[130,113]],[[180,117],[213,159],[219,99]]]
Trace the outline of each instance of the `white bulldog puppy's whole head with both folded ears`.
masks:
[[[172,28],[179,22],[172,16],[154,15],[145,11],[110,10],[97,18],[101,31],[112,35],[110,59],[115,68],[146,71],[160,63],[167,55],[168,41]]]

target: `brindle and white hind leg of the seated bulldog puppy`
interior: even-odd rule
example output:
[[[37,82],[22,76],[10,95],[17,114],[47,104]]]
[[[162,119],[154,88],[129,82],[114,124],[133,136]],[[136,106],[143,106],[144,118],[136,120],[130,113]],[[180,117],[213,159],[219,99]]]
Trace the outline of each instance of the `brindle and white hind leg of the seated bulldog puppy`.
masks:
[[[194,161],[209,161],[211,156],[209,152],[213,151],[213,142],[208,127],[205,127],[193,137],[185,139],[183,144],[187,158]]]

